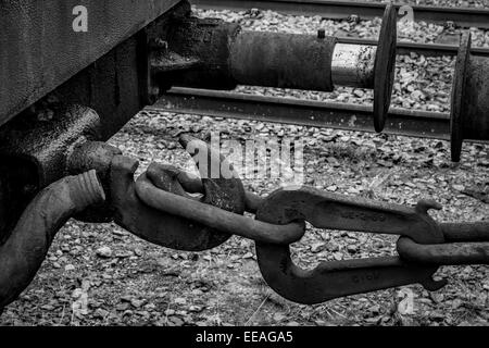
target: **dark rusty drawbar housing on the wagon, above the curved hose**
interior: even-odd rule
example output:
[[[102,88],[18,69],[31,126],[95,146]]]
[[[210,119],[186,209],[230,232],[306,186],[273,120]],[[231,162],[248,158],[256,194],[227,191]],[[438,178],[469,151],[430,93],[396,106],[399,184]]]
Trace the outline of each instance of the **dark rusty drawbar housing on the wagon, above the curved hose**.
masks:
[[[5,202],[0,213],[0,244],[36,194],[68,174],[66,163],[73,148],[100,137],[100,120],[93,110],[49,107],[49,113],[42,113],[50,115],[47,119],[41,119],[41,113],[25,114],[0,130],[0,195]]]

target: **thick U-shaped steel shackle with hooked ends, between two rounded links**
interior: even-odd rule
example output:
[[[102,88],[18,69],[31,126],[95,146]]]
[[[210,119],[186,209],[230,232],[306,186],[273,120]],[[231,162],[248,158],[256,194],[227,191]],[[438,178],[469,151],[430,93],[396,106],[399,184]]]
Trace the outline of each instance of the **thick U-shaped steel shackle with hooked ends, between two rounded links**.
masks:
[[[348,198],[313,188],[278,190],[260,206],[256,219],[273,224],[308,221],[319,228],[410,236],[419,243],[443,243],[443,235],[427,211],[439,208],[421,202],[415,209]],[[256,257],[266,283],[285,298],[306,304],[412,283],[435,290],[436,266],[418,266],[399,258],[323,262],[305,271],[293,264],[288,246],[256,243]]]

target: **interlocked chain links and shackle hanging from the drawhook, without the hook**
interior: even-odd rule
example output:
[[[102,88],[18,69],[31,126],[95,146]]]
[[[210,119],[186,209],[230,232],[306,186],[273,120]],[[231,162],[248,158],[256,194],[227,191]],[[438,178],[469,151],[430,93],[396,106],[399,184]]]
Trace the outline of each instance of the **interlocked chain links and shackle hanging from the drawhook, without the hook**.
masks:
[[[318,303],[413,283],[436,290],[447,284],[432,279],[440,265],[489,264],[489,223],[438,224],[428,214],[441,209],[432,201],[409,208],[308,187],[279,189],[266,198],[244,192],[246,210],[255,213],[252,220],[161,189],[154,173],[165,171],[174,173],[185,191],[204,192],[199,178],[152,164],[136,183],[139,199],[164,213],[254,240],[265,281],[296,302]],[[289,245],[302,238],[305,222],[318,228],[399,235],[399,257],[323,262],[312,271],[301,270],[291,260]]]

